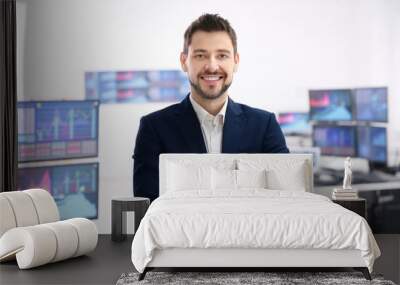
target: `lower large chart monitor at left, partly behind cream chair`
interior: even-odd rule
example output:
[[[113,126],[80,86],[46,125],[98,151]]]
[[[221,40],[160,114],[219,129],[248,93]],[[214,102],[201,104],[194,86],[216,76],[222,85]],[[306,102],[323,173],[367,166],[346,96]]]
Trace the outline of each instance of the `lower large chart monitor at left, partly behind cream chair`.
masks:
[[[98,163],[18,169],[17,189],[42,188],[53,196],[61,220],[98,216]]]

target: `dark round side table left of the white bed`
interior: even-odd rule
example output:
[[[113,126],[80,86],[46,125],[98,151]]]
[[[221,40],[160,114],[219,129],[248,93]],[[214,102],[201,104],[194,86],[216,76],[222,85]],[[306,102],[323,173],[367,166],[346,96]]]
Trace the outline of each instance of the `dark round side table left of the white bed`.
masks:
[[[135,212],[135,232],[150,206],[150,199],[143,197],[114,197],[111,200],[111,240],[126,239],[126,212]]]

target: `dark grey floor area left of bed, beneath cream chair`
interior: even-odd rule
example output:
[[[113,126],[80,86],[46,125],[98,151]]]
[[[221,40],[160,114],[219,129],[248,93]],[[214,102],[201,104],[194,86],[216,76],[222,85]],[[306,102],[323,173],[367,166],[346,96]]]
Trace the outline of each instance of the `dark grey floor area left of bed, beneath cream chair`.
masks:
[[[132,239],[112,242],[111,235],[99,235],[88,255],[27,270],[20,270],[16,261],[1,263],[0,284],[115,284],[122,273],[134,271]]]

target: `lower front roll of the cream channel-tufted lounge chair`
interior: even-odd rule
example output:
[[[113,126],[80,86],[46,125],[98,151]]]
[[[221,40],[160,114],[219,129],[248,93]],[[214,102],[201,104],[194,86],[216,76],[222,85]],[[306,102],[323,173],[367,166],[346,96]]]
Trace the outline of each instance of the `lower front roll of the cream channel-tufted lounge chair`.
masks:
[[[0,261],[16,257],[28,269],[86,254],[97,240],[95,224],[84,218],[13,228],[0,238]]]

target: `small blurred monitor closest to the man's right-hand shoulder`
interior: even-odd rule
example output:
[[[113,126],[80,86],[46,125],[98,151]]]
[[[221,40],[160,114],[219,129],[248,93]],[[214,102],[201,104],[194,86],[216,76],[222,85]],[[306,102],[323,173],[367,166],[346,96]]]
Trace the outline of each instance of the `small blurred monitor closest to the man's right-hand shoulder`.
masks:
[[[278,122],[286,135],[309,135],[311,125],[308,122],[308,113],[285,112],[278,114]]]

